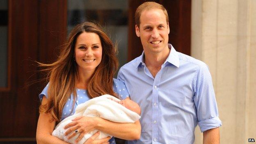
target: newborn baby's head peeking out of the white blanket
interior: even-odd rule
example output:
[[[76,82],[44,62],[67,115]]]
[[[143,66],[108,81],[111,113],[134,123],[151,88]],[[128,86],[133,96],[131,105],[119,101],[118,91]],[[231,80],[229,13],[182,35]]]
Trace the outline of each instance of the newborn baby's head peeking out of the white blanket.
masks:
[[[117,101],[117,103],[123,105],[124,107],[128,108],[129,110],[133,111],[133,112],[136,112],[137,114],[140,115],[140,107],[137,103],[135,103],[134,101],[126,98],[124,100],[121,100],[121,101]]]

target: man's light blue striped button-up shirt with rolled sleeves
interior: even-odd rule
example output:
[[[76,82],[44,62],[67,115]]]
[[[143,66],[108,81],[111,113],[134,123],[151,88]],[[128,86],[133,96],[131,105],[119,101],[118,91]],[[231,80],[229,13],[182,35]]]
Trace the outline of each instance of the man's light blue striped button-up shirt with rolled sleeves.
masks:
[[[119,70],[118,79],[142,109],[141,137],[128,144],[192,144],[197,124],[201,132],[222,125],[208,66],[168,46],[171,52],[155,78],[144,52]]]

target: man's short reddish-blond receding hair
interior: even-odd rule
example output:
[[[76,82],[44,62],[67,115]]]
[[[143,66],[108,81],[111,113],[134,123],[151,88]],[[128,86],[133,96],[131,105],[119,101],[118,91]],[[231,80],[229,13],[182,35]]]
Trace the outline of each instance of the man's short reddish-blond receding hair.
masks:
[[[164,12],[165,17],[166,17],[166,22],[167,23],[169,22],[168,13],[167,13],[167,10],[165,9],[164,6],[162,6],[162,5],[160,5],[156,2],[144,2],[135,11],[135,23],[138,27],[139,27],[139,24],[140,24],[139,18],[142,14],[142,11],[149,10],[149,9],[162,9],[162,11]]]

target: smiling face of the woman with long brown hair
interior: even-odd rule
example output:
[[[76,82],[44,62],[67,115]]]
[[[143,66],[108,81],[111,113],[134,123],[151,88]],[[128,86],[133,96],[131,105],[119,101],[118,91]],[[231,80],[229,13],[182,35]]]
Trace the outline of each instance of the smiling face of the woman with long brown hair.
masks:
[[[98,34],[83,32],[75,42],[75,61],[78,71],[94,72],[101,63],[102,46]]]

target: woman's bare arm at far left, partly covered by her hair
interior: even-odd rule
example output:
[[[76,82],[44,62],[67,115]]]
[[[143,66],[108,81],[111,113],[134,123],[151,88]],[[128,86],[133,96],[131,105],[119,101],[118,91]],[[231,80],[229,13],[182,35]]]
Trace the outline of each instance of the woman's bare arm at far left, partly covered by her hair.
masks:
[[[47,103],[47,98],[43,96],[42,105]],[[40,113],[37,122],[37,144],[68,144],[52,135],[56,121],[49,121],[50,115]]]

